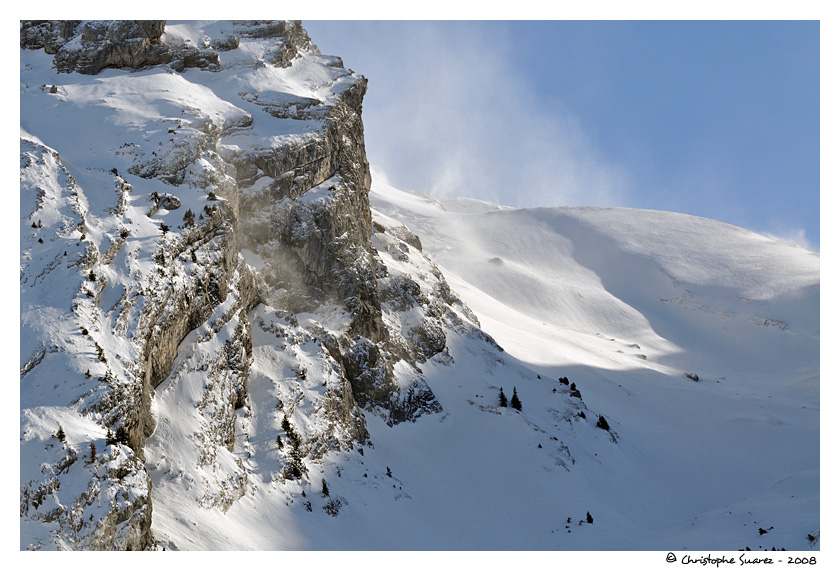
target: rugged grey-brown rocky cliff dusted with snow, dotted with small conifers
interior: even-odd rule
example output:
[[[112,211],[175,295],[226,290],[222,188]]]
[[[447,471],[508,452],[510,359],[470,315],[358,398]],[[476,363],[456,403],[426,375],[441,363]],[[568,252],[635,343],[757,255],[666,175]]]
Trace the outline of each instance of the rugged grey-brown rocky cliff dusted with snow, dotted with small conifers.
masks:
[[[363,77],[299,22],[21,22],[21,49],[22,548],[153,548],[184,477],[228,509],[255,379],[281,480],[368,443],[362,409],[441,410],[418,365],[477,323],[372,222]]]

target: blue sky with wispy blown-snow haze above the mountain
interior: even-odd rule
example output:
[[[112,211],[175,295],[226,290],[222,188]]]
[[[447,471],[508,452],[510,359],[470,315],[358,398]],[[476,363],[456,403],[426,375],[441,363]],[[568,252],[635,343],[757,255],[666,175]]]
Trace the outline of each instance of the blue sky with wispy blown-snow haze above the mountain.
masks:
[[[820,28],[307,21],[372,168],[435,196],[686,212],[819,250]]]

